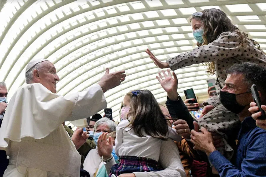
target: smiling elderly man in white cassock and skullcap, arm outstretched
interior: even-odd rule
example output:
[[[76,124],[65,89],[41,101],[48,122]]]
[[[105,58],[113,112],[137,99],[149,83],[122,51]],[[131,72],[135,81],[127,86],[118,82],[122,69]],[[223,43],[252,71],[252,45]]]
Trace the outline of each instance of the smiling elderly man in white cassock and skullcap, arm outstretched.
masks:
[[[4,177],[79,177],[81,157],[62,123],[86,127],[85,118],[106,108],[103,93],[124,81],[124,73],[106,68],[98,84],[61,96],[53,63],[31,60],[27,84],[12,96],[0,129],[0,149],[10,157]]]

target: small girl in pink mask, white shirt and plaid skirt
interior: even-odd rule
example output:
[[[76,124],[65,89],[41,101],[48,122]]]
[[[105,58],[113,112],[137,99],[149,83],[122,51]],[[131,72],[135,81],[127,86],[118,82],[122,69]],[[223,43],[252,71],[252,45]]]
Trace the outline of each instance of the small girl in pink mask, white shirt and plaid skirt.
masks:
[[[181,137],[168,127],[166,117],[149,90],[130,91],[123,104],[130,109],[126,120],[116,127],[114,149],[120,161],[111,168],[109,176],[162,170],[158,163],[162,140],[180,141]]]

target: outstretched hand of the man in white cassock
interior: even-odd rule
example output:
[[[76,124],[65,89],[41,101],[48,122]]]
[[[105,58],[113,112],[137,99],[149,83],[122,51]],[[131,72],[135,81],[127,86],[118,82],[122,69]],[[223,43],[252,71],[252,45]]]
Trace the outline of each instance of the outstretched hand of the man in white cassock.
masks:
[[[101,86],[103,93],[109,89],[113,89],[114,87],[119,86],[121,82],[125,80],[126,74],[124,73],[125,71],[110,73],[109,68],[106,68],[105,74],[98,83]]]

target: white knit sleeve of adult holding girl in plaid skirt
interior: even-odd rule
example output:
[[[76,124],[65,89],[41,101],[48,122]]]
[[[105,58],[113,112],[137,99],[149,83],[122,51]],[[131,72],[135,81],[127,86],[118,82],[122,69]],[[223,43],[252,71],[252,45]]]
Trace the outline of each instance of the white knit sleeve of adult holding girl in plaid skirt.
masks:
[[[171,153],[169,153],[169,150],[171,150]],[[180,160],[179,151],[172,140],[168,139],[167,141],[162,141],[159,163],[165,168],[164,170],[134,172],[134,174],[136,177],[186,177],[184,167]]]

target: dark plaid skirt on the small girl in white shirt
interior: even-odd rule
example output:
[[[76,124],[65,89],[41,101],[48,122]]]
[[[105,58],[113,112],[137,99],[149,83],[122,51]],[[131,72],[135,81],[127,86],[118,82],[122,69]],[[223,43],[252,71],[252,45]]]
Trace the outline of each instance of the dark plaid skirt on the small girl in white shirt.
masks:
[[[112,174],[119,176],[123,173],[163,170],[159,163],[153,159],[135,156],[119,156],[119,159],[119,163],[112,166],[109,177]]]

